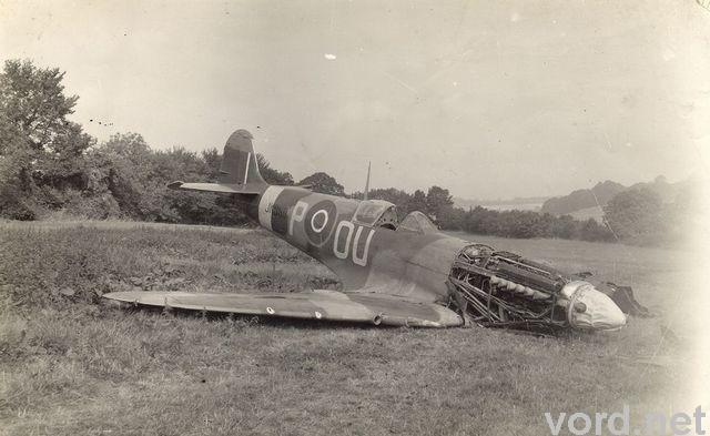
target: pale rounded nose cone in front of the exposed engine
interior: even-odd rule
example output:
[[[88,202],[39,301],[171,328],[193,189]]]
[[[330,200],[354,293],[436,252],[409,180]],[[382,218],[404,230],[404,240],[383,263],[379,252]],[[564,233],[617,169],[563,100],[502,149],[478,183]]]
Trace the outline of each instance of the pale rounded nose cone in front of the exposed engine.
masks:
[[[590,284],[572,294],[567,317],[572,327],[580,329],[615,331],[626,325],[619,306]]]

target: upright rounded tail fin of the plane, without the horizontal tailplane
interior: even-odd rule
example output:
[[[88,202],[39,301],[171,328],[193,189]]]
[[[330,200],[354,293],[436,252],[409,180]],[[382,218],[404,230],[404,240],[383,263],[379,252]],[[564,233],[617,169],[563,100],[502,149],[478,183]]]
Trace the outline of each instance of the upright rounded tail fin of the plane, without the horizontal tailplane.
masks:
[[[252,134],[246,130],[232,133],[224,145],[220,183],[237,185],[265,185],[266,182],[258,172],[256,153],[252,145]]]

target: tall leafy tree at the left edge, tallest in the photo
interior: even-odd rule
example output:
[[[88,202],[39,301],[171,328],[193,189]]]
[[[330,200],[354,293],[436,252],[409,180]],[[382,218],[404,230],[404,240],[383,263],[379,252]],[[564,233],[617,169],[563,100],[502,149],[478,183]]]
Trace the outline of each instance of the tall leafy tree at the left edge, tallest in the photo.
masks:
[[[83,153],[93,139],[67,116],[78,97],[64,95],[63,72],[31,61],[6,61],[0,73],[0,206],[6,216],[33,219],[42,201],[85,183]]]

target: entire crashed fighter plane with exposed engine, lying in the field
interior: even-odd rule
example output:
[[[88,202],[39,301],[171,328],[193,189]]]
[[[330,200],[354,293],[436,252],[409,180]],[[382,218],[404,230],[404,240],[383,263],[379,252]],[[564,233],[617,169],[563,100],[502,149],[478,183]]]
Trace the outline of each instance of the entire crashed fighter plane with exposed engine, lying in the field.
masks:
[[[395,205],[267,184],[252,135],[224,148],[219,183],[170,187],[233,195],[254,221],[320,261],[342,291],[304,293],[114,292],[144,306],[389,326],[544,326],[613,331],[626,324],[615,302],[587,281],[514,253],[449,236],[422,212],[402,222]]]

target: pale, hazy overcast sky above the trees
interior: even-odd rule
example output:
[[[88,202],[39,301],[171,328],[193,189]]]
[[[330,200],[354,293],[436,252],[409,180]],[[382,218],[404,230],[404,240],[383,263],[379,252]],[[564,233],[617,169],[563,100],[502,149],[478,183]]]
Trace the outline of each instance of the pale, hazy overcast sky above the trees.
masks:
[[[347,191],[368,160],[374,187],[469,199],[708,172],[692,0],[0,0],[0,57],[67,71],[99,140],[197,151],[244,128],[275,168]]]

